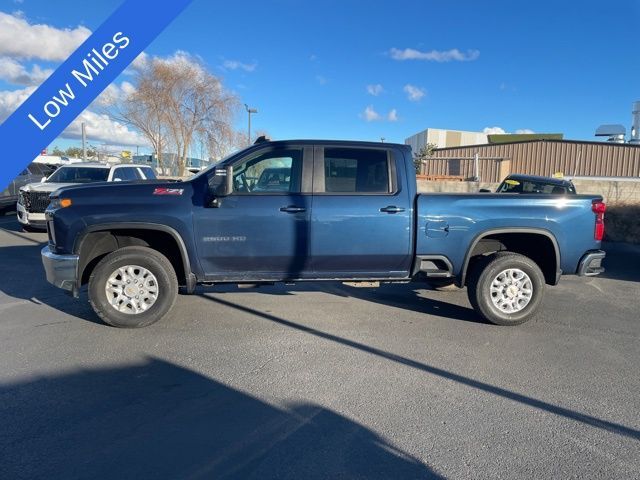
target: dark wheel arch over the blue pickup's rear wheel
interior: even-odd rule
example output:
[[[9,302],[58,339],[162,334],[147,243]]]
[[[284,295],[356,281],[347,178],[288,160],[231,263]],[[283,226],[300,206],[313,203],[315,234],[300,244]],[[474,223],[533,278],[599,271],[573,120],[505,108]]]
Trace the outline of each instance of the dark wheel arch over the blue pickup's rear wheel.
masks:
[[[480,232],[478,235],[474,237],[467,250],[467,253],[464,257],[464,263],[462,265],[461,273],[460,273],[460,281],[459,286],[464,286],[467,281],[467,277],[469,274],[469,266],[474,257],[480,256],[482,253],[478,253],[480,250],[479,246],[483,241],[494,241],[496,243],[502,244],[505,239],[511,239],[517,241],[518,239],[540,239],[540,237],[545,239],[547,245],[545,248],[552,248],[554,253],[553,262],[544,261],[544,257],[536,254],[535,250],[531,248],[531,245],[518,245],[515,244],[515,248],[505,248],[506,251],[511,251],[515,253],[521,253],[523,255],[528,256],[534,262],[538,264],[542,272],[544,273],[546,283],[549,285],[556,285],[560,279],[560,275],[562,274],[562,270],[560,270],[560,248],[558,246],[558,240],[555,235],[549,230],[544,228],[492,228],[488,230],[484,230]],[[514,247],[514,243],[511,243],[511,247]],[[489,250],[490,251],[490,250]],[[498,250],[500,251],[500,250]],[[546,251],[546,250],[544,250]],[[474,255],[475,252],[475,255]],[[532,252],[534,253],[532,255]],[[537,258],[536,258],[537,257]]]

